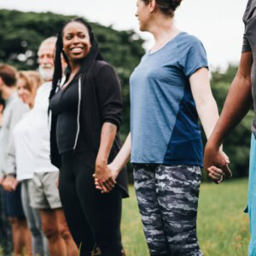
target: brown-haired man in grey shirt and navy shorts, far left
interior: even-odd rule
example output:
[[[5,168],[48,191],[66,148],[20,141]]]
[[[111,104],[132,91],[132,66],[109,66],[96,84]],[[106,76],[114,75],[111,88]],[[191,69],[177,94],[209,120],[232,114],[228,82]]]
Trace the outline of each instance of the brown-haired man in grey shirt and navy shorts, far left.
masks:
[[[0,91],[3,99],[6,101],[6,108],[3,111],[2,127],[2,150],[1,153],[1,172],[0,183],[3,185],[3,207],[6,218],[13,232],[13,243],[15,255],[22,255],[23,247],[26,247],[27,253],[31,254],[31,234],[27,228],[26,218],[23,212],[20,198],[20,184],[16,181],[13,173],[9,172],[7,167],[7,155],[10,147],[10,134],[15,124],[26,113],[28,108],[20,102],[16,89],[16,70],[9,65],[0,66]],[[10,191],[16,188],[15,191]]]

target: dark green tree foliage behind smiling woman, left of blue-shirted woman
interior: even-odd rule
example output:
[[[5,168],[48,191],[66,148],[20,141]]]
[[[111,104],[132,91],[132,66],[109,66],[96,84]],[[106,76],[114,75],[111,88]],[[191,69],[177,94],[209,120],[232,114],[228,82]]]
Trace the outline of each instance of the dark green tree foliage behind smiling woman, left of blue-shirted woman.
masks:
[[[62,24],[75,16],[53,13],[23,13],[16,10],[0,9],[0,62],[9,63],[18,69],[35,69],[40,43],[56,35]],[[121,134],[124,138],[130,125],[129,78],[144,54],[143,39],[133,31],[115,31],[90,23],[98,38],[102,55],[119,75],[123,88],[124,114]]]

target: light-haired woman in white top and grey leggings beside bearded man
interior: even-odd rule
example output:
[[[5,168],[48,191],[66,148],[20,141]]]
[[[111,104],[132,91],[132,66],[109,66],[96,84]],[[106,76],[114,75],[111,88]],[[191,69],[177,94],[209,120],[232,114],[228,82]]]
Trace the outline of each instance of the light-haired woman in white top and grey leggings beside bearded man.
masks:
[[[21,183],[21,201],[29,229],[32,232],[32,254],[34,256],[48,255],[47,239],[41,228],[41,218],[38,209],[30,206],[28,186],[31,183],[34,165],[33,148],[30,127],[34,122],[32,108],[38,87],[43,83],[40,74],[35,71],[23,71],[17,76],[17,92],[21,101],[29,107],[20,121],[15,125],[10,140],[13,140],[12,150],[9,150],[9,170],[13,169],[16,179]]]

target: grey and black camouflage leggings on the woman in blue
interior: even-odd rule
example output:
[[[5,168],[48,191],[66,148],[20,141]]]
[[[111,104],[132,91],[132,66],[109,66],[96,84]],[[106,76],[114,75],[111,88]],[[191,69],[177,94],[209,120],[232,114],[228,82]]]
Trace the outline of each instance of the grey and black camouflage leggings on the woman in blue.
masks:
[[[151,256],[201,256],[196,214],[199,166],[135,164],[134,182]]]

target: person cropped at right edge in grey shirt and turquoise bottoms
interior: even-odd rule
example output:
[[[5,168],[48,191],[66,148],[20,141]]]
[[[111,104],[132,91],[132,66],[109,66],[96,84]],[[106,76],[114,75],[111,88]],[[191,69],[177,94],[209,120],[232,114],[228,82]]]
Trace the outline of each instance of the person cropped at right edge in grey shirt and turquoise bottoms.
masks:
[[[254,107],[254,119],[252,125],[249,190],[246,212],[250,218],[251,241],[248,255],[256,255],[256,0],[247,2],[247,9],[243,16],[245,32],[241,50],[241,61],[233,80],[229,94],[226,98],[223,111],[215,126],[212,136],[208,140],[205,149],[204,166],[214,181],[219,181],[223,175],[231,176],[227,162],[219,147],[232,130],[235,129],[252,106]]]

